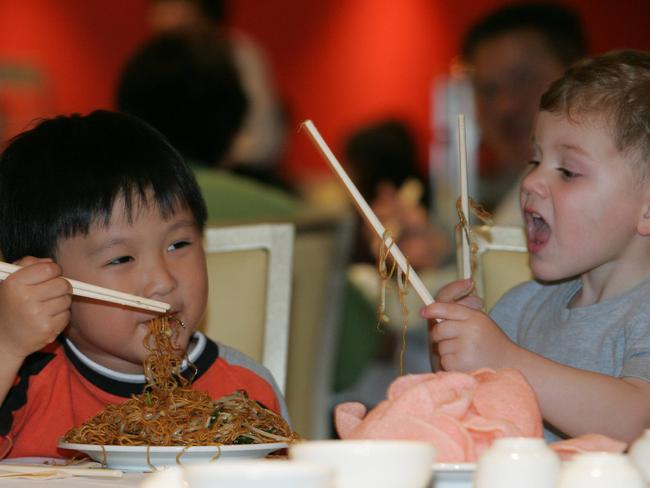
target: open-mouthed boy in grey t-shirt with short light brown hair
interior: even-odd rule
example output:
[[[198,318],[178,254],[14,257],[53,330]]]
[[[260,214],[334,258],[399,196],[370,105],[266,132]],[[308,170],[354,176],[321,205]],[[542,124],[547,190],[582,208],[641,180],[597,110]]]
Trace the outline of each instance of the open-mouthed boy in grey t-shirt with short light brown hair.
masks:
[[[521,185],[536,278],[486,315],[454,282],[422,310],[446,370],[515,367],[546,437],[650,427],[650,54],[571,68],[542,96]],[[446,303],[444,303],[446,302]],[[432,322],[433,323],[433,322]]]

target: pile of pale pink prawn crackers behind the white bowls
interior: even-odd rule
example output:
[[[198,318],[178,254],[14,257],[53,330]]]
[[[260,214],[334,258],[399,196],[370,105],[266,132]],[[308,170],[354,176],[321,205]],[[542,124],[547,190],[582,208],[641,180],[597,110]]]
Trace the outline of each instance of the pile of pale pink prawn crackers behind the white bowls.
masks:
[[[436,461],[476,461],[499,437],[541,437],[537,398],[515,369],[407,375],[370,412],[360,403],[335,409],[342,439],[416,439],[436,446]]]

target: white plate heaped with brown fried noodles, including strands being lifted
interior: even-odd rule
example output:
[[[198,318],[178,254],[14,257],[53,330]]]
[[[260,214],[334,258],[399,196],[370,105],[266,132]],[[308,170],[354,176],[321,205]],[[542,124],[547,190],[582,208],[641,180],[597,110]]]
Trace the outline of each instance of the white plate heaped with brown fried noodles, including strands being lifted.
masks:
[[[60,448],[109,468],[152,471],[217,458],[264,457],[298,439],[281,415],[244,390],[213,399],[193,389],[181,374],[177,322],[164,316],[149,324],[143,392],[70,429]]]

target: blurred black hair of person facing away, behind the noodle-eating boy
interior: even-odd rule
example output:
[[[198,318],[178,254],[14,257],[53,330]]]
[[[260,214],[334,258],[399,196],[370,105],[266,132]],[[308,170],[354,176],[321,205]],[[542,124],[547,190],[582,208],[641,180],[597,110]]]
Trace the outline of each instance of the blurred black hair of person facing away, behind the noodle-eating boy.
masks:
[[[225,38],[173,32],[132,56],[117,107],[158,129],[192,163],[215,166],[241,128],[248,100]]]

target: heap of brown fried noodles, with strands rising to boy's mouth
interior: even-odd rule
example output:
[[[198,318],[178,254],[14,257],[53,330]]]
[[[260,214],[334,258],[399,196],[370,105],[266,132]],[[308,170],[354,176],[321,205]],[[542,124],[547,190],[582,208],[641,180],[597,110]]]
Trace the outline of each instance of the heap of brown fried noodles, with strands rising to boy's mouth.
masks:
[[[121,446],[207,446],[291,442],[297,435],[277,413],[239,390],[218,400],[190,387],[181,374],[183,354],[174,343],[179,321],[160,317],[149,323],[144,339],[147,384],[139,395],[106,409],[64,440]],[[196,367],[194,376],[196,375]]]

